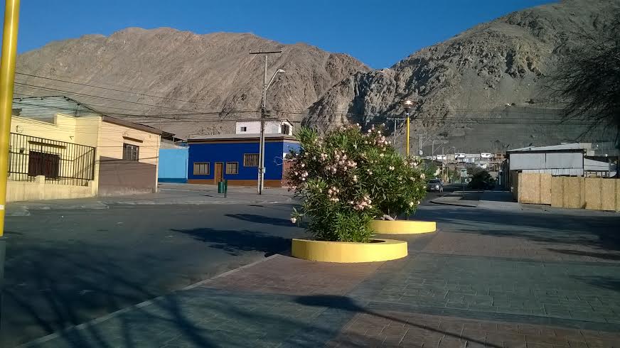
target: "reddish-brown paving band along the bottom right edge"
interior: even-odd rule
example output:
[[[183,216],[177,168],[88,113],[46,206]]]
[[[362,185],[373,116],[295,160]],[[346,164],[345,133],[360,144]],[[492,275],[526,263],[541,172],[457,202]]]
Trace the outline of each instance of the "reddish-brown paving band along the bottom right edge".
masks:
[[[328,347],[620,347],[619,332],[403,312],[353,317]]]

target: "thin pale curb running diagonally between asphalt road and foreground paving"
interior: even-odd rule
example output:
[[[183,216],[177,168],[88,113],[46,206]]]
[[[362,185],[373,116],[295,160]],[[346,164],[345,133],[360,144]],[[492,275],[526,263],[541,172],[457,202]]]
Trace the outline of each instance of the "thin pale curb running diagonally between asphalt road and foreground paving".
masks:
[[[105,322],[106,320],[111,319],[113,317],[117,317],[118,315],[121,315],[124,312],[129,312],[130,310],[146,307],[147,305],[151,305],[151,304],[155,303],[156,301],[165,298],[166,296],[170,296],[170,295],[172,295],[174,293],[178,293],[178,292],[181,292],[181,291],[186,291],[186,290],[191,290],[193,288],[197,288],[198,286],[201,286],[204,283],[207,283],[208,281],[212,281],[215,278],[220,278],[220,277],[223,277],[223,276],[228,276],[228,275],[230,275],[232,273],[236,273],[238,271],[241,271],[242,269],[250,268],[252,266],[256,266],[257,264],[262,263],[264,261],[267,261],[267,260],[270,260],[270,259],[274,259],[276,256],[279,256],[279,254],[274,254],[272,256],[265,257],[264,259],[260,259],[258,261],[254,261],[252,263],[248,263],[245,266],[240,266],[240,267],[237,267],[235,269],[231,269],[230,271],[226,271],[224,273],[218,274],[217,276],[213,276],[213,277],[205,279],[203,281],[199,281],[198,283],[193,283],[193,284],[191,284],[189,286],[186,286],[185,288],[181,288],[179,290],[173,290],[170,293],[167,293],[166,295],[157,296],[156,298],[151,298],[151,300],[146,300],[144,302],[137,303],[135,305],[130,305],[129,307],[121,308],[121,309],[117,310],[116,312],[111,312],[111,313],[108,313],[107,315],[103,315],[102,317],[96,317],[95,319],[89,320],[87,322],[82,322],[82,324],[73,325],[73,326],[70,326],[70,327],[65,327],[63,330],[58,330],[56,332],[51,333],[50,335],[39,337],[37,339],[33,339],[32,341],[20,344],[16,348],[36,347],[39,344],[43,344],[45,342],[50,341],[51,339],[62,337],[62,335],[65,332],[70,332],[72,330],[84,330],[87,327],[90,327],[92,325],[96,325],[96,324],[98,324],[100,322]]]

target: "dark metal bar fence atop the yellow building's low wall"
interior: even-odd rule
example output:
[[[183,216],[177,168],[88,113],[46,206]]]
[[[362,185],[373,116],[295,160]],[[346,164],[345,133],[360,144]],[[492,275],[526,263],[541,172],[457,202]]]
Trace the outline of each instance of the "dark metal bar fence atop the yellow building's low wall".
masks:
[[[11,133],[9,180],[86,186],[95,178],[95,148]]]

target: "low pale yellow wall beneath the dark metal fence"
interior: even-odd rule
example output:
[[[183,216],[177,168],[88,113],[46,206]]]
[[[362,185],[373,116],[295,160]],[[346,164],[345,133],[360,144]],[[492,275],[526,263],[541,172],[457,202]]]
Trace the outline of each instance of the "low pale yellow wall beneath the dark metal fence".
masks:
[[[60,185],[45,182],[43,175],[35,181],[11,181],[6,183],[6,202],[24,200],[63,200],[95,196],[95,185],[88,186]]]

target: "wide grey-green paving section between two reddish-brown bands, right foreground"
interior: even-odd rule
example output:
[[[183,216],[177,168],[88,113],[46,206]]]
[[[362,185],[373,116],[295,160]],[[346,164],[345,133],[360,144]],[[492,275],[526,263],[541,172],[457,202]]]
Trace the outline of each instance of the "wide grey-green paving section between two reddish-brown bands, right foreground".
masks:
[[[620,293],[615,288],[620,265],[614,263],[442,254],[419,254],[407,263],[386,277],[373,295],[375,300],[592,322],[620,320]]]

